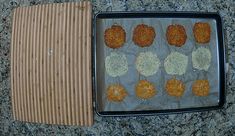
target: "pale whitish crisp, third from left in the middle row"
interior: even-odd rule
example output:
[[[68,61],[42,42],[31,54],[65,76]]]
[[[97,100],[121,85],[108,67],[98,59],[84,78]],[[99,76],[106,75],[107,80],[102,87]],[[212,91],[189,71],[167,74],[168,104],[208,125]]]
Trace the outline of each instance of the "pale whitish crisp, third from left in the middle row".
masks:
[[[167,74],[183,75],[188,66],[188,56],[179,52],[171,52],[164,60],[164,67]]]

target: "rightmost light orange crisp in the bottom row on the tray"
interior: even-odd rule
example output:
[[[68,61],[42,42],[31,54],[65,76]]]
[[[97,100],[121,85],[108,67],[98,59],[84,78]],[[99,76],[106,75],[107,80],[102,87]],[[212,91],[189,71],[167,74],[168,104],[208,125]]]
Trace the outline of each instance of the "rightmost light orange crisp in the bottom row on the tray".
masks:
[[[193,94],[196,96],[208,96],[210,84],[208,80],[196,80],[192,86]]]

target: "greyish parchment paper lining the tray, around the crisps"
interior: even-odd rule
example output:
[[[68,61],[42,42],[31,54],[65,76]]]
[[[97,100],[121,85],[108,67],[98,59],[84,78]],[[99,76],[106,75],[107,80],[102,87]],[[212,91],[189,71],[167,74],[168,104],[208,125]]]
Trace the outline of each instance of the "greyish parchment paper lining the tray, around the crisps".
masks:
[[[199,45],[195,42],[193,36],[193,25],[195,22],[202,21],[208,22],[211,26],[211,40],[208,44]],[[138,24],[146,24],[154,27],[156,37],[153,44],[150,47],[141,48],[136,46],[132,41],[132,33],[134,28]],[[104,31],[106,28],[111,27],[113,24],[121,25],[126,31],[126,43],[119,49],[108,48],[104,43]],[[185,27],[187,33],[187,41],[184,46],[178,48],[169,46],[166,40],[166,29],[168,25],[181,24]],[[218,104],[219,100],[219,80],[218,80],[218,43],[217,43],[217,32],[216,32],[216,21],[213,19],[179,19],[179,18],[133,18],[133,19],[101,19],[99,27],[99,35],[97,38],[100,40],[100,44],[97,46],[103,46],[104,58],[110,55],[111,52],[122,52],[127,56],[128,59],[128,72],[121,76],[113,78],[106,72],[104,73],[104,87],[105,89],[98,90],[102,96],[102,109],[103,111],[136,111],[136,110],[163,110],[163,109],[181,109],[191,107],[204,107],[214,106]],[[211,51],[212,60],[208,71],[197,70],[192,66],[192,51],[198,47],[205,47]],[[157,54],[161,61],[159,71],[153,76],[145,77],[138,73],[135,67],[135,59],[140,52],[152,51]],[[178,51],[188,56],[188,67],[184,75],[168,75],[164,69],[164,59],[172,51]],[[102,61],[104,62],[104,61]],[[97,63],[102,65],[104,63]],[[105,70],[105,69],[104,69]],[[184,95],[180,98],[169,96],[165,89],[165,83],[168,79],[175,77],[184,82],[186,90]],[[154,83],[157,95],[148,100],[142,100],[135,95],[135,85],[139,80],[146,79]],[[192,94],[192,83],[197,79],[208,79],[210,83],[210,94],[206,97],[198,97]],[[128,96],[123,102],[110,102],[106,98],[106,88],[108,85],[113,83],[122,84],[127,92]]]

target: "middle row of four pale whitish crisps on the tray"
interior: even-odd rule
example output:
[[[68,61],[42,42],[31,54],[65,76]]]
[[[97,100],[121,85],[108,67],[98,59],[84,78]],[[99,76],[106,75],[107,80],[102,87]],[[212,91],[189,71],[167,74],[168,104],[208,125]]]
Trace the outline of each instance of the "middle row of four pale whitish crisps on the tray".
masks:
[[[211,52],[200,47],[192,52],[193,68],[208,71],[211,65]],[[148,77],[156,74],[161,66],[161,61],[156,53],[151,51],[141,52],[135,60],[135,68],[139,74]],[[165,72],[169,75],[183,75],[187,72],[188,56],[171,52],[164,60]],[[111,77],[123,76],[128,72],[128,59],[124,53],[111,52],[105,58],[105,70]]]

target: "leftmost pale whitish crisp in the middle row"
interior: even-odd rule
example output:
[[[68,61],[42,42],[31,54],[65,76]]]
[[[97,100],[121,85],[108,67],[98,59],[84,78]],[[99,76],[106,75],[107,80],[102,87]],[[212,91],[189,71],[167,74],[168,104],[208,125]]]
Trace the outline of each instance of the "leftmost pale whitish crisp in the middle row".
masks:
[[[128,63],[125,54],[111,52],[105,58],[105,69],[111,77],[122,76],[128,71]]]

